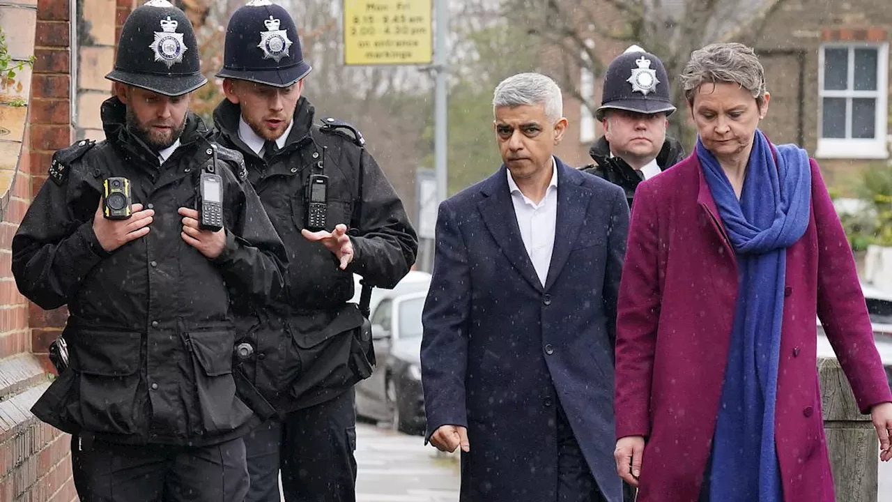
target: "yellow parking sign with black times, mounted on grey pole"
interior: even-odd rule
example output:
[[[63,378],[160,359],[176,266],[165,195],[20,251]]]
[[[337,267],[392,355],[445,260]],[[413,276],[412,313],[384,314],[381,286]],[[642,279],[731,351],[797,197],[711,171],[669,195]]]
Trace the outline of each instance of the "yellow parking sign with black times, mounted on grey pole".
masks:
[[[343,63],[433,63],[432,3],[343,0]]]

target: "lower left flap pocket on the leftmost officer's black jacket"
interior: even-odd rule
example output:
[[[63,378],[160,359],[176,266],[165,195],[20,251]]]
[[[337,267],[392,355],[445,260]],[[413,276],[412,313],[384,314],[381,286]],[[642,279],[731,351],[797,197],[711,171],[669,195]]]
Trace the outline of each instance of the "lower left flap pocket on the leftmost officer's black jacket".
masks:
[[[147,399],[139,385],[142,334],[83,330],[69,342],[78,374],[80,425],[87,431],[135,434],[145,422]]]

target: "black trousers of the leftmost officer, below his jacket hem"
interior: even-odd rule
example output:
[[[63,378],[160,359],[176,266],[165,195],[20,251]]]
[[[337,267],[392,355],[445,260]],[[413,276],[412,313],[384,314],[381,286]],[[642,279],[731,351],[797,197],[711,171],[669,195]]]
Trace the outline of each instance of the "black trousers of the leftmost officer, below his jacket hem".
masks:
[[[202,448],[119,445],[71,437],[81,502],[242,502],[244,442]]]

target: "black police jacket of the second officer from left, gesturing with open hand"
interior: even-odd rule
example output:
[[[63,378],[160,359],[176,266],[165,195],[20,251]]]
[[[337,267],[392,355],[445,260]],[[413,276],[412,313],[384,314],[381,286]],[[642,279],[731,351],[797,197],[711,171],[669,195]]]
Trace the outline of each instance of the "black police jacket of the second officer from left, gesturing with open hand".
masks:
[[[285,146],[261,158],[239,138],[239,116],[239,107],[227,100],[217,107],[218,140],[244,155],[248,179],[289,257],[285,295],[236,317],[242,341],[254,347],[244,369],[269,402],[287,412],[325,402],[368,377],[374,361],[363,356],[357,339],[364,319],[357,305],[347,303],[352,275],[394,287],[415,263],[417,236],[358,131],[338,121],[330,123],[344,129],[314,124],[313,106],[301,97]],[[301,236],[305,187],[313,173],[329,179],[326,229],[338,223],[350,229],[355,255],[345,271],[334,254]]]

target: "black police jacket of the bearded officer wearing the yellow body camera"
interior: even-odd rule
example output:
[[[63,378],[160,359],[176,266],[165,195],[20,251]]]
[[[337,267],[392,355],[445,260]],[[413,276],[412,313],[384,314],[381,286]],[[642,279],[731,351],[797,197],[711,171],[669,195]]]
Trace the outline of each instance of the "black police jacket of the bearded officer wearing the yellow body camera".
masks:
[[[68,305],[70,314],[63,331],[70,368],[32,411],[62,431],[119,443],[238,437],[256,419],[235,394],[227,287],[260,301],[277,296],[282,242],[244,180],[241,155],[218,146],[226,247],[206,258],[181,238],[178,214],[195,207],[198,176],[212,162],[201,119],[188,115],[181,146],[159,166],[128,133],[116,97],[103,103],[102,117],[107,139],[55,153],[12,240],[21,292],[45,309]],[[145,237],[106,253],[92,222],[110,176],[128,178],[133,202],[155,215]]]

